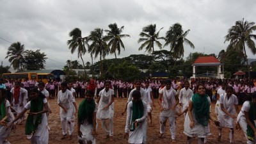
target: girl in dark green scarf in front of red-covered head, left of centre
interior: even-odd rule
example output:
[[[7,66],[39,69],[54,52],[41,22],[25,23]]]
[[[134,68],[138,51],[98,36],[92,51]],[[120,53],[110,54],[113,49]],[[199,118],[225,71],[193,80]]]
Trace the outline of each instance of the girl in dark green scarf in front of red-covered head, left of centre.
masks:
[[[93,99],[94,93],[92,90],[86,92],[86,99],[84,99],[78,109],[77,113],[77,136],[80,144],[91,142],[95,144],[95,136],[97,130],[96,112],[97,103]]]

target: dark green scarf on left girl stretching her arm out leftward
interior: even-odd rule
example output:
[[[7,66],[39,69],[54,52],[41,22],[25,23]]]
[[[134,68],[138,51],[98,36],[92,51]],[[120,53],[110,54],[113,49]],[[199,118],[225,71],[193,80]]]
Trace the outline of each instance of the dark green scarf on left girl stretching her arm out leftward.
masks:
[[[37,99],[30,100],[30,113],[37,113],[43,110],[44,108],[44,100],[42,97],[38,97]],[[34,123],[35,118],[35,123]],[[39,115],[28,115],[25,125],[25,134],[30,135],[34,134],[37,130],[37,127],[42,122],[42,113]]]

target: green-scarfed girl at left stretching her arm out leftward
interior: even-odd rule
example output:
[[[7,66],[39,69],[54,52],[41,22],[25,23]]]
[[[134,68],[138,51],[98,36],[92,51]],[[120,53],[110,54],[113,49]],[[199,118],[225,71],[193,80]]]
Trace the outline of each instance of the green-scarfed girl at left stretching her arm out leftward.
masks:
[[[25,134],[32,135],[31,144],[48,144],[49,143],[49,131],[47,128],[46,113],[49,111],[48,104],[45,96],[33,88],[29,93],[31,100],[26,104],[22,112],[8,124],[13,125],[15,121],[22,117],[22,115],[28,110],[28,118],[26,120]]]

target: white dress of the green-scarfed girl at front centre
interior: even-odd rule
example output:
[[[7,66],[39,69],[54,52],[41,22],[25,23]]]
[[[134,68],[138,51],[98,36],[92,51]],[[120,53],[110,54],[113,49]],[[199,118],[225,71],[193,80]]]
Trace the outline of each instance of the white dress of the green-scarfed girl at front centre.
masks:
[[[132,102],[127,105],[127,118],[125,125],[125,132],[129,132],[128,143],[143,143],[147,144],[147,103],[143,102],[143,116],[136,121],[138,122],[138,127],[134,131],[129,131],[131,127],[132,118]]]

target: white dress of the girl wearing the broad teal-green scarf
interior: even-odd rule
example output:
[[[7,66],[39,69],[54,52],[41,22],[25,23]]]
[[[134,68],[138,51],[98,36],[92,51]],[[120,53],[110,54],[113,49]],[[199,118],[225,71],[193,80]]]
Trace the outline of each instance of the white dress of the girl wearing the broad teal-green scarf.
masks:
[[[192,101],[192,97],[191,97],[190,100]],[[207,100],[209,102],[209,105],[211,106],[210,97],[207,97]],[[211,109],[210,109],[210,111],[211,111]],[[186,136],[189,136],[189,137],[192,137],[192,138],[195,137],[195,136],[198,136],[198,138],[205,138],[206,136],[208,136],[210,134],[209,125],[204,126],[202,124],[199,124],[196,121],[194,108],[192,109],[191,112],[192,112],[193,121],[194,121],[195,126],[193,128],[191,128],[189,126],[191,121],[190,121],[189,115],[187,113],[187,115],[185,117],[185,122],[184,122],[184,134],[186,134]]]

